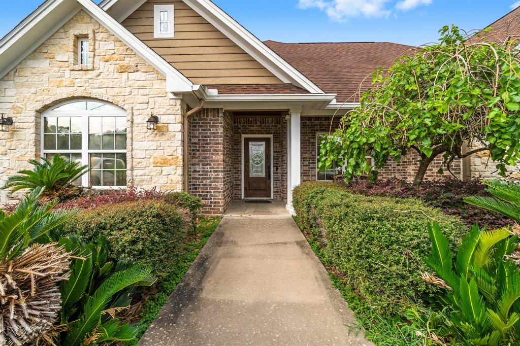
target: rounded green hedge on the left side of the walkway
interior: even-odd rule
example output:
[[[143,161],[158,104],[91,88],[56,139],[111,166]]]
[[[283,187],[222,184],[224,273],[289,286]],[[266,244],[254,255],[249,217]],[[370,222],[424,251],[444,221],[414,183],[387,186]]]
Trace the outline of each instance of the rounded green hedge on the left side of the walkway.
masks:
[[[85,241],[107,239],[112,259],[149,265],[161,279],[193,237],[188,212],[164,201],[124,202],[83,210],[63,228]]]

